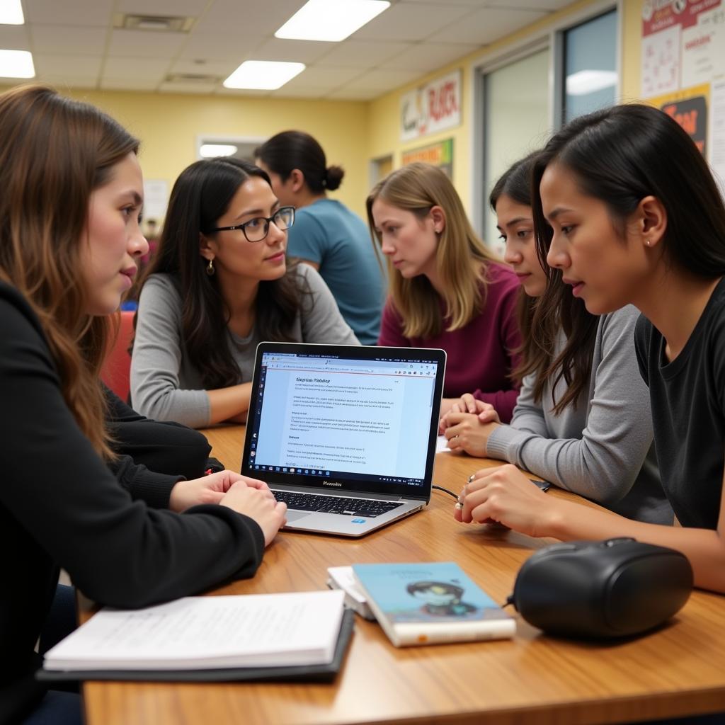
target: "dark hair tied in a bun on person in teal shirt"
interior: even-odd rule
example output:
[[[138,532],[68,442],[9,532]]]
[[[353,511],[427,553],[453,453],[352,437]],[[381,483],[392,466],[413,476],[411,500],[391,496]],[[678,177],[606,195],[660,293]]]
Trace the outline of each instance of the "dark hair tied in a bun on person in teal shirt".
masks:
[[[305,175],[305,183],[314,194],[334,191],[340,186],[344,170],[327,165],[322,146],[304,131],[282,131],[254,151],[270,171],[286,181],[293,169]]]

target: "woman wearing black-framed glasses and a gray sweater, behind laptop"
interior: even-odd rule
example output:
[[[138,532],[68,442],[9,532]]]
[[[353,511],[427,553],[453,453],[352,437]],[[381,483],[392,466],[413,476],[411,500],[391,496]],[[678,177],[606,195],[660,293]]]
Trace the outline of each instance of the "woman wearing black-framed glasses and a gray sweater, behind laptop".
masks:
[[[293,223],[249,162],[204,159],[181,173],[138,301],[139,413],[195,428],[243,421],[258,342],[358,344],[317,271],[286,259]]]

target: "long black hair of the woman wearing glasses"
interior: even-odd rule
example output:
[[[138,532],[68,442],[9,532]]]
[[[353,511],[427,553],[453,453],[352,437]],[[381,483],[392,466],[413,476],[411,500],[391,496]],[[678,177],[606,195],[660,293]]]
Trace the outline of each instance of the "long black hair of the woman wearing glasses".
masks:
[[[204,269],[199,234],[212,235],[234,194],[252,177],[270,183],[262,169],[241,159],[203,159],[186,167],[174,183],[157,254],[141,281],[143,286],[157,272],[173,277],[182,293],[182,335],[188,357],[209,389],[236,385],[241,378],[228,345],[220,344],[228,339],[231,311],[217,276],[207,275]],[[280,279],[261,281],[255,305],[260,339],[290,341],[302,297],[308,291],[294,265],[288,265]]]

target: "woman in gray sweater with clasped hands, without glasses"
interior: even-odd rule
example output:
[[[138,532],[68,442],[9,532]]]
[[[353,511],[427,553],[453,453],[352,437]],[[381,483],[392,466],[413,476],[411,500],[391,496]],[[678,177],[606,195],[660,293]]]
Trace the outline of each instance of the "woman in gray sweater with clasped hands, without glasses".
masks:
[[[634,352],[639,312],[630,305],[592,315],[557,273],[547,281],[530,202],[535,155],[513,165],[490,196],[523,288],[521,393],[509,426],[465,395],[442,421],[449,447],[515,463],[627,518],[672,523]]]

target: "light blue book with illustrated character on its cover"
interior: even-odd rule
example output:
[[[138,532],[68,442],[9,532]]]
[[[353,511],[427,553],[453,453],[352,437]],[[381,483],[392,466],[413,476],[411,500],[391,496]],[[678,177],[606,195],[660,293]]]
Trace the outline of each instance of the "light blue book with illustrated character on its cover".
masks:
[[[396,647],[515,634],[515,618],[456,563],[353,564],[352,571]]]

